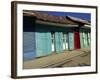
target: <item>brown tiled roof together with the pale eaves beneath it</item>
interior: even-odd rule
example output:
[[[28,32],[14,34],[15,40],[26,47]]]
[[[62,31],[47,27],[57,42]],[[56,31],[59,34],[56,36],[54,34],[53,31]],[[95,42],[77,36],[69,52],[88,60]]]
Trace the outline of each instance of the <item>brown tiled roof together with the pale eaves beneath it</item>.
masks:
[[[32,16],[36,18],[36,23],[44,25],[52,25],[59,27],[90,27],[90,22],[72,16],[54,16],[37,11],[24,11],[24,16]]]

